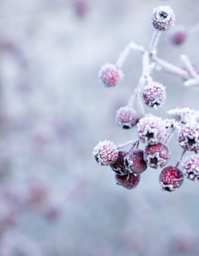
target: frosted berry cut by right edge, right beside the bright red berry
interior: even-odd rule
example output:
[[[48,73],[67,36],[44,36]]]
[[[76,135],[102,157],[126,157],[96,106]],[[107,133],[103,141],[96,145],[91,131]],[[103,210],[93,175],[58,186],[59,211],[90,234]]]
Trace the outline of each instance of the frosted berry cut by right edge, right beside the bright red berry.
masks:
[[[199,155],[188,155],[182,161],[184,176],[192,181],[199,181]]]

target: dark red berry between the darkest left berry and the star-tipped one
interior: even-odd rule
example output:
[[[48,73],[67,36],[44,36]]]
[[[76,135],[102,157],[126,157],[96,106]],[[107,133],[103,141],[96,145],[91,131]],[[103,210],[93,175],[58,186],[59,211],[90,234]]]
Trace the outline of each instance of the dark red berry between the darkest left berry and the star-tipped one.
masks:
[[[144,162],[144,152],[141,149],[132,149],[124,158],[124,165],[129,172],[141,173],[146,170],[147,165]]]

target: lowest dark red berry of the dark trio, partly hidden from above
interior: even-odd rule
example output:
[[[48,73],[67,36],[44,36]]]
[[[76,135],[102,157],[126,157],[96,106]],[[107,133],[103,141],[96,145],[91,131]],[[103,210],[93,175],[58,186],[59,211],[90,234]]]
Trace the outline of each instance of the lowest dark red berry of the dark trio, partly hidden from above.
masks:
[[[137,187],[140,182],[140,174],[139,173],[129,173],[128,175],[115,175],[117,185],[120,185],[128,190],[132,190]]]

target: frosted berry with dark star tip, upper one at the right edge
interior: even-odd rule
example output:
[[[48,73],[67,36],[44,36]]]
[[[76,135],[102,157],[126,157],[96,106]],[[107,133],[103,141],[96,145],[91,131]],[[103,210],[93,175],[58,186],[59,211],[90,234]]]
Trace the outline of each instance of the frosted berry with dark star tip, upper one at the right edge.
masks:
[[[187,151],[197,152],[199,149],[199,126],[186,124],[180,131],[179,143]]]

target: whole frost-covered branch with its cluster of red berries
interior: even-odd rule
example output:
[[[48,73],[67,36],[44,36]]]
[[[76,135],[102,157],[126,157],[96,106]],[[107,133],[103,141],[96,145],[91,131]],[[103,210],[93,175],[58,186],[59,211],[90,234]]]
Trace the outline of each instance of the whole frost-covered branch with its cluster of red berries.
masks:
[[[152,25],[155,31],[149,49],[138,46],[133,41],[121,52],[115,65],[106,64],[100,69],[99,77],[106,87],[113,87],[123,79],[124,60],[130,50],[140,51],[143,66],[138,85],[133,91],[127,105],[120,107],[115,116],[118,126],[123,129],[137,129],[137,138],[116,146],[112,141],[100,141],[93,149],[93,157],[99,165],[109,165],[115,172],[118,185],[127,189],[137,187],[140,176],[147,168],[160,169],[159,182],[163,191],[175,191],[183,184],[184,177],[199,180],[199,123],[198,112],[189,108],[174,108],[167,113],[173,118],[161,117],[146,113],[145,108],[161,107],[166,101],[166,87],[152,78],[152,70],[167,71],[182,77],[185,85],[199,84],[199,76],[189,59],[182,55],[186,68],[179,68],[157,57],[157,44],[163,31],[174,26],[174,11],[169,6],[153,9]],[[175,43],[185,40],[185,35],[175,34]],[[135,108],[135,101],[137,109]],[[145,105],[145,107],[144,107]],[[169,141],[178,134],[178,144],[182,149],[175,165],[168,165],[170,159]],[[142,143],[142,147],[140,145]],[[130,146],[129,151],[123,148]],[[192,155],[184,157],[187,151]]]

